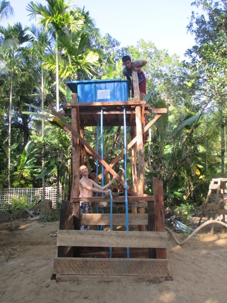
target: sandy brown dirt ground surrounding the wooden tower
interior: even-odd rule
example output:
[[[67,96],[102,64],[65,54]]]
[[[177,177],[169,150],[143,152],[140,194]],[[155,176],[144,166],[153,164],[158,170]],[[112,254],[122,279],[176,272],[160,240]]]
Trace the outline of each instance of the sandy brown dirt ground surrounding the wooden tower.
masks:
[[[182,247],[168,235],[173,281],[159,284],[50,280],[59,221],[0,224],[0,302],[29,303],[226,303],[227,230],[210,227]],[[176,237],[183,240],[182,234]]]

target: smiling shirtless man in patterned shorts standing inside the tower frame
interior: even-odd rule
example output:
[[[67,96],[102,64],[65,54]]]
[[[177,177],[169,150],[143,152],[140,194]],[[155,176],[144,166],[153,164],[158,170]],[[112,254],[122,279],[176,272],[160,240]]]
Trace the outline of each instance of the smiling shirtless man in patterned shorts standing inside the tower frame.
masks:
[[[113,184],[113,182],[116,180],[116,177],[113,177],[113,179],[105,186],[100,186],[97,183],[95,183],[92,179],[88,178],[88,169],[86,165],[81,165],[80,167],[80,174],[82,175],[80,181],[79,181],[79,188],[80,188],[80,197],[89,198],[92,197],[93,192],[100,192],[100,193],[107,193],[111,192],[108,187]],[[92,213],[92,207],[91,202],[80,202],[80,214],[91,214]],[[81,225],[81,230],[88,230],[89,225]]]

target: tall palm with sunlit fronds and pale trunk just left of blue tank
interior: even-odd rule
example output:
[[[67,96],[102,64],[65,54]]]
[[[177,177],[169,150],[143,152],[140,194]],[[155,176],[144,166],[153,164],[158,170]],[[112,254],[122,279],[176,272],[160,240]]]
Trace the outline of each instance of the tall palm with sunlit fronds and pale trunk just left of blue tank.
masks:
[[[58,76],[58,45],[59,38],[69,32],[81,30],[84,17],[78,10],[71,7],[69,1],[67,4],[64,0],[47,0],[48,6],[30,2],[27,11],[30,12],[31,19],[36,15],[40,16],[39,23],[44,25],[55,37],[56,50],[56,106],[59,111],[59,76]]]

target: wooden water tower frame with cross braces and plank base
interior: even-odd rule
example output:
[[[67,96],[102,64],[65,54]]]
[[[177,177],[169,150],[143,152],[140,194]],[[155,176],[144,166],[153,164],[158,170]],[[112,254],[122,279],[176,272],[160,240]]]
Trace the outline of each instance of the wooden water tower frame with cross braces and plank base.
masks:
[[[87,278],[127,282],[172,280],[166,258],[167,233],[164,222],[163,182],[154,179],[154,195],[143,195],[143,133],[163,113],[166,113],[167,109],[150,108],[145,101],[139,100],[137,73],[133,75],[133,83],[136,97],[132,102],[122,100],[77,102],[77,95],[74,93],[72,102],[66,104],[64,112],[58,113],[49,106],[54,115],[64,123],[65,130],[72,135],[73,182],[70,201],[62,201],[61,205],[60,228],[57,237],[58,255],[54,259],[52,275],[57,281],[76,281]],[[104,94],[104,92],[101,93]],[[122,126],[123,109],[126,113],[126,124],[132,128],[132,138],[127,144],[127,150],[133,149],[133,188],[127,186],[128,208],[132,209],[132,212],[128,214],[128,224],[139,225],[140,231],[80,230],[80,225],[110,225],[110,214],[80,215],[80,201],[90,201],[93,206],[110,207],[110,198],[79,198],[79,167],[82,164],[84,149],[104,166],[104,173],[108,172],[116,176],[117,182],[122,186],[125,185],[124,180],[114,171],[114,165],[124,155],[124,150],[111,163],[107,163],[84,140],[84,127],[97,125],[101,111],[103,111],[105,125]],[[150,113],[154,116],[144,126],[144,115]],[[71,117],[71,125],[65,121],[63,115]],[[138,153],[138,158],[136,153]],[[99,175],[96,181],[100,178]],[[124,206],[124,201],[124,197],[113,197],[113,207]],[[144,212],[145,207],[147,213]],[[113,214],[112,224],[114,226],[126,225],[125,214]],[[111,258],[108,253],[110,247]],[[129,258],[127,258],[126,248],[130,251]]]

